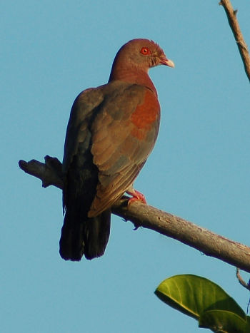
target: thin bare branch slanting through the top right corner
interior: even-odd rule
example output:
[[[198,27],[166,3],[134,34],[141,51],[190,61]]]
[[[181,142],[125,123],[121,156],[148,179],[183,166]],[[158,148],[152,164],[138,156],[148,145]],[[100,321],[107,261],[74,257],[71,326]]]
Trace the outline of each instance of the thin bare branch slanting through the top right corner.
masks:
[[[244,63],[246,76],[249,78],[250,81],[250,56],[246,42],[244,41],[244,37],[239,27],[239,22],[236,19],[237,11],[234,11],[230,0],[221,0],[219,2],[219,5],[223,6],[224,10],[226,11],[226,16],[229,20],[229,26],[233,31],[234,39],[236,40],[237,46],[239,48],[239,53],[241,54],[241,59]]]

